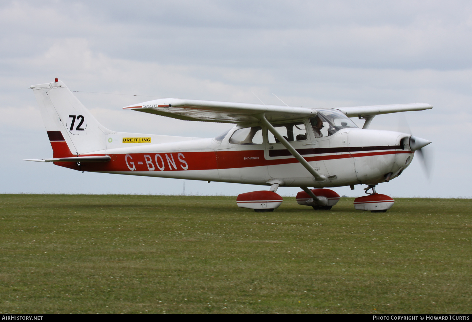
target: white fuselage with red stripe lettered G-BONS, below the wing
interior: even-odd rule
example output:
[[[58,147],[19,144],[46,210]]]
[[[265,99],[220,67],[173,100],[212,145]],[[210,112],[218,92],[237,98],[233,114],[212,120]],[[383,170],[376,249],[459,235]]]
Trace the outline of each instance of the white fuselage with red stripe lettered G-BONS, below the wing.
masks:
[[[231,129],[221,142],[205,138],[159,144],[153,144],[152,139],[151,143],[129,142],[133,138],[115,132],[107,135],[107,141],[114,142],[110,148],[107,145],[105,150],[80,154],[109,155],[110,161],[55,164],[91,172],[253,185],[269,185],[268,181],[279,179],[284,186],[320,188],[384,182],[388,174],[390,179],[400,175],[414,154],[405,133],[347,128],[329,137],[314,137],[310,132],[306,140],[291,144],[314,169],[328,177],[316,182],[281,143],[269,143],[267,131],[262,131],[261,144],[229,143],[228,138],[241,128]],[[67,147],[65,141],[54,144]]]

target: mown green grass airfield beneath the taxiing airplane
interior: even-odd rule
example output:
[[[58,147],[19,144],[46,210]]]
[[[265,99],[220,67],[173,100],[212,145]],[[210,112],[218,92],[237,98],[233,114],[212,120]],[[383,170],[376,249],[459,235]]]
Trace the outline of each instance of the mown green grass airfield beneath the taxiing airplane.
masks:
[[[470,199],[0,195],[0,313],[470,313]]]

